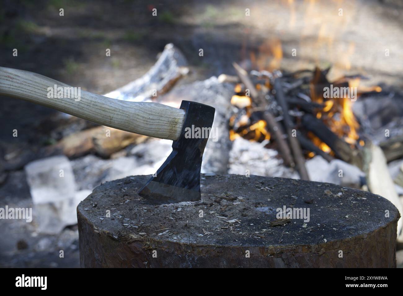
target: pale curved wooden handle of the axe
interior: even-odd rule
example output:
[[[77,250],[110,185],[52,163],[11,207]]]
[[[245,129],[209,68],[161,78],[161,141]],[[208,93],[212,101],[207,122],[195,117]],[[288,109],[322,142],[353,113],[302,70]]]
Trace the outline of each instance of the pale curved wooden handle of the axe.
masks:
[[[174,141],[181,134],[184,110],[159,103],[121,101],[81,90],[77,99],[74,95],[50,98],[49,93],[54,93],[55,85],[71,88],[70,85],[33,72],[0,67],[0,95],[37,103],[136,134]],[[74,94],[74,91],[71,93]]]

